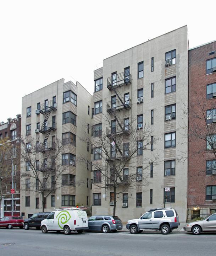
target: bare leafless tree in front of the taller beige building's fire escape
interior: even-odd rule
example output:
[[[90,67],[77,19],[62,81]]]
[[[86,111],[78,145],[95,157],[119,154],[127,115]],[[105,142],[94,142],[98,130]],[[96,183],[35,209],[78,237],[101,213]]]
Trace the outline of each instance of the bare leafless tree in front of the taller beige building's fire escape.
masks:
[[[128,188],[144,190],[148,185],[149,166],[158,160],[157,154],[149,154],[151,145],[156,142],[153,138],[151,126],[144,124],[141,129],[137,129],[137,120],[130,123],[118,122],[116,113],[115,119],[110,121],[109,116],[103,115],[103,125],[92,126],[92,136],[84,132],[83,142],[86,142],[92,149],[91,168],[93,171],[93,184],[95,186],[110,189],[113,197],[110,202],[113,204],[113,215],[116,212],[116,202],[121,198],[121,194]],[[86,130],[86,129],[85,129]],[[82,156],[80,161],[86,161]],[[137,162],[140,162],[137,170]]]

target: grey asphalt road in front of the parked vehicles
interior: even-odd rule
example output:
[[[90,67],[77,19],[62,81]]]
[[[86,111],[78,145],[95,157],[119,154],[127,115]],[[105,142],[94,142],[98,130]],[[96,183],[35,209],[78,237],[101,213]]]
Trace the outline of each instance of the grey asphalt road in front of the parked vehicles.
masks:
[[[216,233],[193,235],[144,231],[87,233],[70,235],[43,234],[35,229],[0,229],[2,256],[204,256],[216,254]]]

